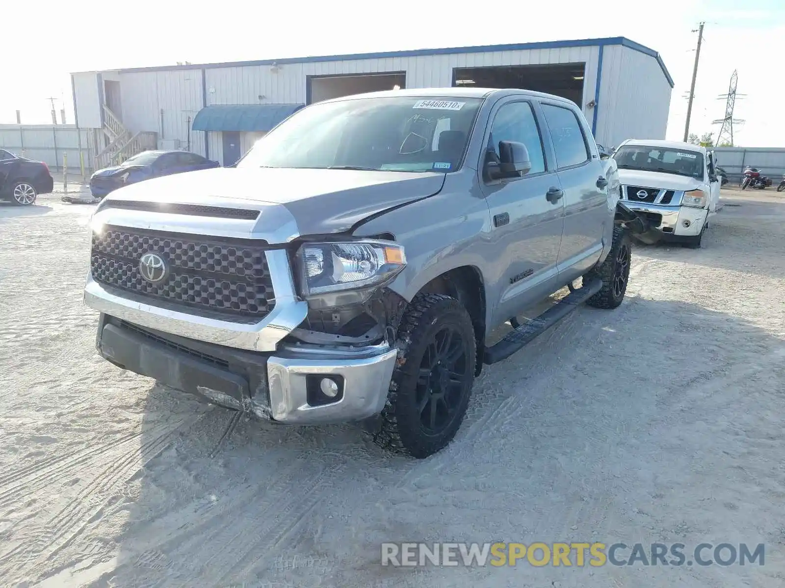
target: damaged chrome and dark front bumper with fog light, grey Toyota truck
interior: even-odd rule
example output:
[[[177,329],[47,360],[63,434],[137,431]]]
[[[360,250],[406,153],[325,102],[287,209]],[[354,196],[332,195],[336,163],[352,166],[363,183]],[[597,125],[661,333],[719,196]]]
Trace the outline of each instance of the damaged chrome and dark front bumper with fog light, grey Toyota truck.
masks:
[[[96,343],[100,355],[120,368],[225,408],[298,425],[358,421],[382,412],[397,359],[386,343],[240,350],[108,314],[100,315]]]

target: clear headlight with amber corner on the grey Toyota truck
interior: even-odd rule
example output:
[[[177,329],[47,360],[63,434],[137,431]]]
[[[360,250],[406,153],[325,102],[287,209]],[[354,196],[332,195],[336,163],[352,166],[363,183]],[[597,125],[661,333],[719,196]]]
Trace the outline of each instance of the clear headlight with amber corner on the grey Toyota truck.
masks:
[[[406,267],[391,241],[307,243],[298,256],[305,296],[383,285]]]

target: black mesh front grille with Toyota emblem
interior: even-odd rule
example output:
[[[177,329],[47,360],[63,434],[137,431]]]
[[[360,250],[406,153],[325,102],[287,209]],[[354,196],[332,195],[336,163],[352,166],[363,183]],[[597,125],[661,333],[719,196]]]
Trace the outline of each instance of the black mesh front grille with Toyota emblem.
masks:
[[[133,294],[261,320],[275,307],[267,244],[104,227],[93,233],[93,279]]]

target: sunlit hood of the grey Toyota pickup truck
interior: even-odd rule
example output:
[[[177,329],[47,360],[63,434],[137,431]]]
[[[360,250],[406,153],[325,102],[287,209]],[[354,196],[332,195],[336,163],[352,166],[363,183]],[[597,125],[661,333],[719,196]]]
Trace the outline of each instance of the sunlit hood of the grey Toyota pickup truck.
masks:
[[[217,168],[153,178],[111,193],[106,200],[231,206],[254,202],[261,215],[254,234],[265,227],[266,207],[286,208],[298,233],[330,234],[412,201],[438,194],[444,173],[377,172],[348,169]],[[223,201],[223,202],[222,202]]]

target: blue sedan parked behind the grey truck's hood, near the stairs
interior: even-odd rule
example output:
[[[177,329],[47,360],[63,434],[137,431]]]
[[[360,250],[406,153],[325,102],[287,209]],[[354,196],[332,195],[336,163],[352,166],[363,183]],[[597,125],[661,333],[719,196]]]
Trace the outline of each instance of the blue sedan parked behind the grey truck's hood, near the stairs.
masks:
[[[120,165],[93,173],[90,177],[90,192],[93,198],[104,198],[109,192],[130,183],[220,166],[218,162],[190,151],[142,151]]]

